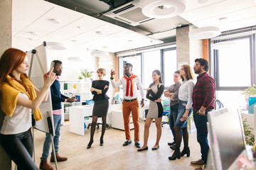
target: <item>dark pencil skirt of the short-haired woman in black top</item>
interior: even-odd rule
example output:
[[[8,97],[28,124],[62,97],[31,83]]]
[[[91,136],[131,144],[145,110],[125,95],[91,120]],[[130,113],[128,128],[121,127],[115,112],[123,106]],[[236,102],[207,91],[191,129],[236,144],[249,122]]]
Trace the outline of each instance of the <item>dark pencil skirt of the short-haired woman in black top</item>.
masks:
[[[100,116],[100,117],[107,116],[108,108],[109,108],[108,100],[95,101],[95,104],[92,110],[92,116]]]

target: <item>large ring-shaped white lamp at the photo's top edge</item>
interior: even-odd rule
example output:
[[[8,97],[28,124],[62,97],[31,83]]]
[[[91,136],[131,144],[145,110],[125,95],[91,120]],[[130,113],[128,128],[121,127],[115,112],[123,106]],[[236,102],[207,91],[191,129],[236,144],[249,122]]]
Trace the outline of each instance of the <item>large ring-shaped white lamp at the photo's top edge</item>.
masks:
[[[184,0],[145,0],[142,13],[149,18],[171,18],[185,11]]]

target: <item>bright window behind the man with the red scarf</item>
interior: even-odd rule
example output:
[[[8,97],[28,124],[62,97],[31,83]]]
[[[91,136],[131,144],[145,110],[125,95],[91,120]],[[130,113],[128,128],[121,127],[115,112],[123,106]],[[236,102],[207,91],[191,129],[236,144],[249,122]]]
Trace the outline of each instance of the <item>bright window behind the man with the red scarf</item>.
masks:
[[[125,63],[132,63],[132,72],[142,78],[144,89],[153,82],[152,72],[159,69],[166,89],[174,84],[173,75],[177,70],[176,47],[139,53],[136,56],[119,58],[119,76],[123,75]]]

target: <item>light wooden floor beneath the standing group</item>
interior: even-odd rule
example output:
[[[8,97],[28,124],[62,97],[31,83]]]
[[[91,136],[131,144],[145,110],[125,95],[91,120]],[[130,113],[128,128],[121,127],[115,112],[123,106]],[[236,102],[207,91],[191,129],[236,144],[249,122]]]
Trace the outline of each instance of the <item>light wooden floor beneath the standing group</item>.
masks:
[[[140,126],[140,141],[143,145],[144,121]],[[101,126],[100,126],[101,128]],[[63,125],[61,128],[61,141],[59,143],[59,154],[68,157],[66,162],[58,162],[58,169],[195,169],[190,162],[201,158],[200,146],[196,142],[196,132],[189,133],[189,147],[191,157],[181,157],[175,161],[169,161],[168,157],[173,154],[167,142],[172,142],[173,137],[169,125],[164,125],[159,149],[152,151],[156,140],[156,127],[152,123],[149,134],[149,150],[137,152],[137,148],[132,145],[122,146],[125,141],[124,131],[107,129],[105,132],[104,146],[100,146],[101,129],[95,131],[94,143],[90,149],[87,149],[87,143],[90,140],[90,130],[85,130],[85,136],[75,135],[69,132],[69,125]],[[131,130],[132,139],[134,139],[134,130]],[[40,164],[40,157],[43,149],[45,133],[35,130],[35,149],[36,165]],[[181,150],[183,145],[181,146]],[[48,158],[50,160],[50,158]],[[55,167],[54,162],[50,163]],[[14,166],[13,166],[14,169]]]

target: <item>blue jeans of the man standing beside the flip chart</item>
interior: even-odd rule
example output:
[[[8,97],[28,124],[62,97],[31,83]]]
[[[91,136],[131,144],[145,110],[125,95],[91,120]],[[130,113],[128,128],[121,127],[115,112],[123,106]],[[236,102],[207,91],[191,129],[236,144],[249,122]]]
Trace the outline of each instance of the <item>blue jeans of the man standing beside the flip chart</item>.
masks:
[[[61,125],[61,115],[54,115],[53,114],[53,123],[54,123],[54,129],[55,129],[55,136],[53,136],[53,144],[55,153],[58,153],[58,142],[60,138],[60,125]],[[50,140],[50,134],[46,133],[46,140],[43,143],[43,154],[42,159],[47,159],[49,156],[49,150],[50,150],[51,140]],[[53,150],[51,152],[53,154]]]

